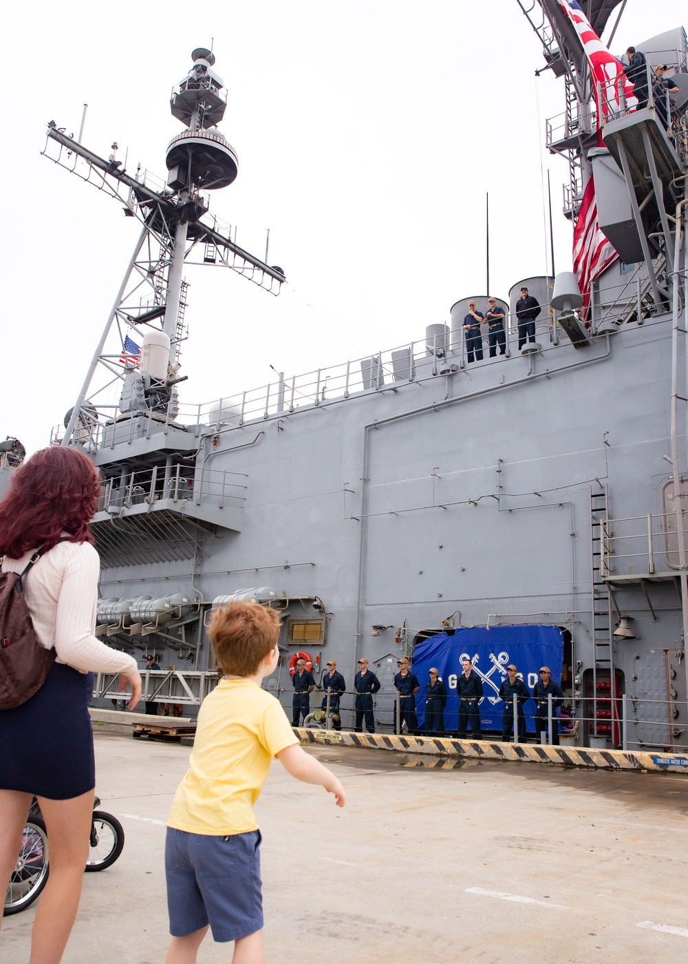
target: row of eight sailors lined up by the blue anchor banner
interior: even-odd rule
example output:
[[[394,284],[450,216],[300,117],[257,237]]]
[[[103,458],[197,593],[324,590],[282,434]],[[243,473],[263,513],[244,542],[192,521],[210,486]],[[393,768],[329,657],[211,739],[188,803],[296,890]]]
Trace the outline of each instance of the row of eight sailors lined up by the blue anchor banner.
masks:
[[[415,694],[420,689],[420,683],[415,673],[410,671],[409,660],[402,656],[398,660],[399,672],[394,677],[394,686],[399,694],[399,730],[397,731],[397,709],[394,707],[394,731],[401,733],[404,723],[409,733],[419,733],[418,719],[415,713]],[[322,709],[327,710],[328,696],[332,725],[335,730],[341,730],[339,718],[339,700],[346,692],[344,677],[337,671],[336,662],[331,659],[327,665],[327,672],[323,675],[322,686],[325,690]],[[363,722],[368,733],[375,733],[375,717],[373,714],[373,696],[380,689],[381,683],[375,673],[368,669],[368,660],[363,656],[358,660],[358,672],[354,681],[356,700],[355,731],[362,732]],[[466,736],[466,727],[470,726],[471,736],[482,736],[480,726],[479,701],[483,697],[483,681],[473,669],[472,661],[464,656],[462,659],[463,672],[457,680],[457,695],[459,696],[459,738]],[[430,680],[425,685],[425,734],[426,736],[444,736],[444,708],[447,703],[447,689],[439,679],[436,667],[428,673]],[[294,700],[292,712],[292,726],[299,726],[301,716],[304,720],[310,712],[310,693],[315,688],[312,673],[305,668],[304,659],[297,660],[296,671],[292,678],[294,685]],[[502,742],[509,742],[514,732],[514,718],[516,707],[518,742],[525,742],[525,713],[523,704],[528,700],[535,702],[535,738],[541,741],[542,733],[548,732],[548,697],[552,697],[554,716],[564,699],[561,687],[551,678],[549,667],[542,666],[540,680],[533,687],[531,693],[528,686],[516,676],[516,665],[507,666],[507,677],[499,687],[499,696],[504,701],[502,712]],[[559,745],[559,726],[556,720],[552,724],[552,743]]]

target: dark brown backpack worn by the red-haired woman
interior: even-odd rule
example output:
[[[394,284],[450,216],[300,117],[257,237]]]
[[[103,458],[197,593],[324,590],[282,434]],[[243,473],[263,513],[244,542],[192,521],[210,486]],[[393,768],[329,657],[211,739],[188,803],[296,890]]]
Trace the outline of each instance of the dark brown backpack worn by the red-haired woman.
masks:
[[[20,574],[0,573],[0,710],[30,700],[55,662],[55,650],[46,650],[36,638],[22,581],[44,551],[44,546],[37,549]]]

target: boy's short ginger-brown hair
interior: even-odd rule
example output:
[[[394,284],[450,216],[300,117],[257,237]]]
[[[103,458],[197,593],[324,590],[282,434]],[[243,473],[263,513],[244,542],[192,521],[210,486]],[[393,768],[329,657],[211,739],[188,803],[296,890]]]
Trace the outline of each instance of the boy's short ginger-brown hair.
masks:
[[[223,673],[254,676],[278,645],[279,616],[255,603],[227,603],[213,613],[208,636]]]

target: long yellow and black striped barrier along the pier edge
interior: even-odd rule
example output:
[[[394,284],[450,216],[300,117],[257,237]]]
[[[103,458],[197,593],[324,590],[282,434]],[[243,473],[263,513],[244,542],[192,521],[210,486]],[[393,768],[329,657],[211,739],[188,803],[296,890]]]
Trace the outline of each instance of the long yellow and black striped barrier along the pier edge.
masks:
[[[599,750],[592,747],[549,746],[540,743],[500,743],[489,740],[453,739],[448,736],[394,736],[393,734],[351,733],[341,730],[311,730],[295,727],[304,743],[325,746],[356,746],[361,749],[391,750],[431,757],[491,760],[500,763],[550,763],[605,770],[648,770],[685,773],[688,752],[652,753],[650,751]]]

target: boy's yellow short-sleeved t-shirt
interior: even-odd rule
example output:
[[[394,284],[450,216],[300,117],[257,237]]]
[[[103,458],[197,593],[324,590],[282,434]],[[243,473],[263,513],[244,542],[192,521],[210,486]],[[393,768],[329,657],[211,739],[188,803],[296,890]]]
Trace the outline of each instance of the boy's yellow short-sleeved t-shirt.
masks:
[[[270,763],[298,742],[271,693],[251,680],[221,680],[200,705],[189,769],[168,826],[209,836],[257,830],[253,804]]]

